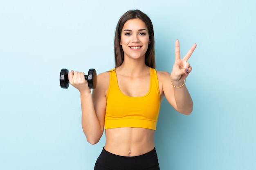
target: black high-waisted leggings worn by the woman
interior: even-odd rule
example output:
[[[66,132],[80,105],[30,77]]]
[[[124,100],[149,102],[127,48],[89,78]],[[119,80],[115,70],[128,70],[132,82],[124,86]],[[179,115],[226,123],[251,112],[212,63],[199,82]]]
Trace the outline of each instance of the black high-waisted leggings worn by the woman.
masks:
[[[94,170],[159,170],[159,164],[155,148],[135,157],[115,155],[103,148]]]

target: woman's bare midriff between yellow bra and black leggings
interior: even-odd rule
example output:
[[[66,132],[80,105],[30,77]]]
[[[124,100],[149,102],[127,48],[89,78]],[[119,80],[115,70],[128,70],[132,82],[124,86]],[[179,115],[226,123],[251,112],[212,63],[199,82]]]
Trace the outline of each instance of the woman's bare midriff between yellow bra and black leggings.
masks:
[[[154,130],[134,127],[106,129],[104,149],[120,156],[139,156],[154,149]]]

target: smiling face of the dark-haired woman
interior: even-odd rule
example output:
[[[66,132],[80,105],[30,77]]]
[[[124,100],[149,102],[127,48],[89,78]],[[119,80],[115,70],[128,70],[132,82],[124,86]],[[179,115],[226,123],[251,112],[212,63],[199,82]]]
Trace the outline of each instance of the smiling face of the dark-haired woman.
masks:
[[[120,45],[124,50],[124,59],[145,58],[150,44],[149,33],[146,24],[139,18],[126,21],[121,31]]]

